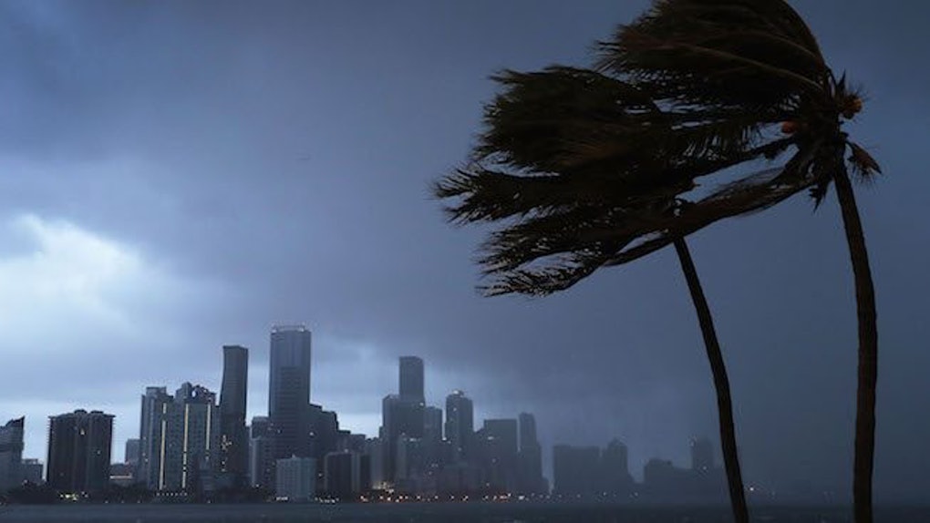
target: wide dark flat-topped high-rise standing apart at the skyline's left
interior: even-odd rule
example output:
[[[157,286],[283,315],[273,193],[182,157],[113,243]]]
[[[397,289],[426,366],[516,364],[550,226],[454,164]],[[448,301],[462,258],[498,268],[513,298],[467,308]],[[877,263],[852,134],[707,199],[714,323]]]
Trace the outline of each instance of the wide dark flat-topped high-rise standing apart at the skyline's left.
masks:
[[[96,492],[110,481],[113,414],[78,410],[48,418],[48,485]]]

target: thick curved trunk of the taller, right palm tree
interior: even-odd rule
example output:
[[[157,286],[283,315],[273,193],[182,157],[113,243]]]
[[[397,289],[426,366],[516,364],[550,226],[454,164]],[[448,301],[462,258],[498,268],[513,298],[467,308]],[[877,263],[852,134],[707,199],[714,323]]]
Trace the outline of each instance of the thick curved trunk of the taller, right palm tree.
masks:
[[[875,288],[869,268],[869,253],[856,205],[856,194],[845,165],[833,178],[843,213],[846,243],[856,280],[859,331],[858,388],[856,395],[856,455],[853,461],[853,511],[856,523],[871,523],[871,478],[875,460],[875,388],[878,381],[878,326]]]

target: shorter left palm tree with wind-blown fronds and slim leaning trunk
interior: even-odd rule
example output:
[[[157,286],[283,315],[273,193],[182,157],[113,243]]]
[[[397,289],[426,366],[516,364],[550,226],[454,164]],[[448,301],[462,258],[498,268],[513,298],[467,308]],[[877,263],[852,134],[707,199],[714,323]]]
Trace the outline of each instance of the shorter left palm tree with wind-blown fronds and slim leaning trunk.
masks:
[[[697,203],[683,195],[694,190],[696,177],[775,154],[790,140],[725,156],[690,157],[685,153],[705,139],[706,131],[675,124],[675,115],[662,111],[635,85],[567,67],[504,72],[495,78],[504,92],[486,108],[474,163],[445,177],[434,190],[455,201],[446,207],[455,222],[504,224],[483,245],[480,263],[492,281],[482,290],[551,294],[671,239],[711,364],[734,516],[748,522],[729,380],[684,225],[697,223],[697,216],[709,211],[712,217],[761,208],[798,187],[768,187],[751,178]]]

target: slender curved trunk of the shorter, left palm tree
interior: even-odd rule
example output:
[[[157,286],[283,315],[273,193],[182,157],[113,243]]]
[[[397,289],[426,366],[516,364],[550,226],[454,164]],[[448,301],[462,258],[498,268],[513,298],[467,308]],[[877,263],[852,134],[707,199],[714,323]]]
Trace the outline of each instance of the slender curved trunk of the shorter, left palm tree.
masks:
[[[707,349],[707,359],[711,362],[713,373],[713,386],[717,391],[717,414],[720,420],[720,441],[724,450],[724,466],[726,467],[726,481],[730,490],[730,505],[733,507],[733,518],[736,523],[749,523],[749,509],[746,506],[746,490],[743,489],[743,477],[739,470],[739,456],[737,454],[737,430],[733,422],[733,401],[730,399],[730,380],[726,376],[724,354],[720,351],[717,333],[713,328],[711,307],[707,304],[704,290],[697,278],[697,268],[688,245],[684,238],[675,240],[675,252],[682,264],[684,280],[688,282],[691,300],[697,311],[697,321],[704,336],[704,346]]]

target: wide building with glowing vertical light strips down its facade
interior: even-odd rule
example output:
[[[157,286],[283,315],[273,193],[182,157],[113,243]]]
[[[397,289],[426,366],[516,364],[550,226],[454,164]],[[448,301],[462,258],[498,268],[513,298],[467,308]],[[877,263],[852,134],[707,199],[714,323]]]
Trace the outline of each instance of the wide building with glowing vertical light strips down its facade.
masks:
[[[153,388],[153,387],[150,387]],[[167,399],[167,400],[165,400]],[[174,397],[157,399],[153,417],[147,484],[149,489],[212,490],[219,463],[219,407],[216,394],[184,383]]]

